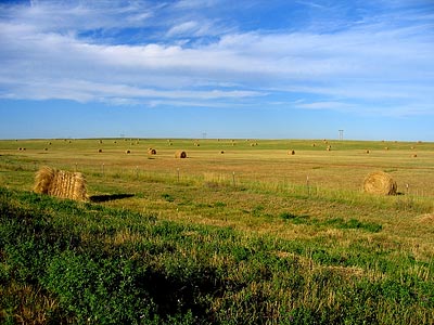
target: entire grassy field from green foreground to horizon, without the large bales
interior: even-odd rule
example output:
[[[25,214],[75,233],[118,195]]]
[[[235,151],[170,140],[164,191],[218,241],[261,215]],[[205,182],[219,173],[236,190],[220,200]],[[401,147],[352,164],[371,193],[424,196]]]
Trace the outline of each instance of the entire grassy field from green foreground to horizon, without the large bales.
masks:
[[[85,173],[91,203],[29,193],[44,165]],[[361,192],[376,170],[399,195]],[[430,324],[433,183],[434,143],[0,141],[0,321],[27,311],[39,324]],[[44,259],[23,261],[38,249]],[[105,301],[114,287],[122,295]]]

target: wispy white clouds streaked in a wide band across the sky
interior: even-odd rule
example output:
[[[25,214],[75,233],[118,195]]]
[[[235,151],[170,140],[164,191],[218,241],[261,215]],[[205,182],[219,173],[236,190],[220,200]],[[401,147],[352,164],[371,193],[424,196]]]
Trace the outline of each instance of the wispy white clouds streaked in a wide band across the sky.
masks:
[[[201,12],[218,2],[3,4],[0,96],[237,106],[251,100],[266,105],[278,95],[281,103],[303,100],[292,105],[302,109],[353,112],[369,104],[367,112],[401,115],[426,114],[434,102],[434,17],[426,11],[411,10],[413,18],[401,25],[382,12],[381,21],[357,18],[333,32],[294,26],[237,31]],[[116,42],[125,28],[152,31],[136,43]],[[94,39],[92,30],[111,40]],[[206,41],[183,46],[180,38]]]

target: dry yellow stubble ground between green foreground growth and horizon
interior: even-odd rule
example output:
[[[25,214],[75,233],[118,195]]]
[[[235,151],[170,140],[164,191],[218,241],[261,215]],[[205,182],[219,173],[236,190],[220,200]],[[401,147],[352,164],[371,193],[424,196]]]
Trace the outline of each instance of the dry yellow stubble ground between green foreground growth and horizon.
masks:
[[[148,154],[150,147],[156,155]],[[186,151],[188,158],[176,159],[178,150]],[[31,191],[34,173],[44,165],[84,172],[89,195],[104,205],[151,211],[162,218],[283,236],[315,236],[318,231],[288,224],[278,217],[284,212],[319,220],[356,218],[382,224],[383,234],[407,239],[424,234],[424,239],[433,243],[431,229],[417,222],[432,222],[426,220],[433,212],[433,143],[180,139],[0,142],[3,186]],[[363,178],[376,170],[396,180],[398,196],[361,193]]]

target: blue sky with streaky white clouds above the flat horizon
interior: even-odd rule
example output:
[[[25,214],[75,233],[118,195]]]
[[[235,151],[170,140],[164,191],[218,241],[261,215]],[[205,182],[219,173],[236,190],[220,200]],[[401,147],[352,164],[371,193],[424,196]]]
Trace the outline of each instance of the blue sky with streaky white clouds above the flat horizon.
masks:
[[[434,1],[0,1],[0,139],[434,141]]]

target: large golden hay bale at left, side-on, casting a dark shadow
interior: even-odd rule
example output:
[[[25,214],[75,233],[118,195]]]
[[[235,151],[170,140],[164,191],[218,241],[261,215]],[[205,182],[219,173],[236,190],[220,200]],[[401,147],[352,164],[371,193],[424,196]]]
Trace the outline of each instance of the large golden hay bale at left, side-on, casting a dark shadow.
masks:
[[[86,180],[80,172],[42,167],[36,173],[34,192],[61,198],[87,200]]]

